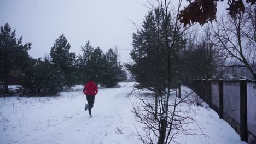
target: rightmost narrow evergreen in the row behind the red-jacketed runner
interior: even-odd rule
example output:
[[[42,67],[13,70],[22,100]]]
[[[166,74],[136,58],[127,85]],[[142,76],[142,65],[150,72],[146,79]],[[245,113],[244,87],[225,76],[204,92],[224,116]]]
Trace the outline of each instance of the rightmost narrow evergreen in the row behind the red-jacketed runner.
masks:
[[[121,80],[123,71],[120,62],[117,61],[117,54],[113,49],[109,49],[106,53],[106,62],[103,85],[107,87],[117,86],[117,83]]]

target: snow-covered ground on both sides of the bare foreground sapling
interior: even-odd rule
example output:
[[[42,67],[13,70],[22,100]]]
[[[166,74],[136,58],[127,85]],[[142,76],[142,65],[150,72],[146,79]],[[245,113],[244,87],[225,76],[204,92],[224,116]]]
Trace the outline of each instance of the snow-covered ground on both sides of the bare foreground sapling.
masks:
[[[62,92],[58,97],[0,98],[0,143],[141,143],[131,113],[134,82],[120,88],[100,88],[92,118],[84,111],[83,87]],[[189,91],[182,87],[183,94]],[[129,96],[137,101],[135,95]],[[191,106],[190,116],[208,137],[183,136],[181,143],[245,143],[212,109]],[[193,127],[193,124],[191,124]]]

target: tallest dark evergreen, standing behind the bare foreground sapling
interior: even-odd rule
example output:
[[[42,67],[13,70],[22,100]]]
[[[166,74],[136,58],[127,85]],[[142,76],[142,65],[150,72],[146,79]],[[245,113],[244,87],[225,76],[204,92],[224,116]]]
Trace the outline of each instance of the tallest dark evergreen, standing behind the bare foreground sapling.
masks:
[[[139,82],[138,88],[147,88],[157,94],[165,93],[167,87],[176,88],[179,86],[181,49],[185,46],[180,28],[176,32],[174,41],[174,24],[170,13],[167,15],[167,21],[169,23],[167,34],[170,35],[168,40],[165,38],[166,22],[161,16],[161,10],[156,8],[154,11],[149,11],[145,16],[142,28],[133,33],[133,49],[130,55],[134,62],[126,64],[136,81]],[[171,50],[166,49],[166,41],[168,41],[168,45],[174,41]],[[167,86],[168,57],[171,61],[169,86]]]

